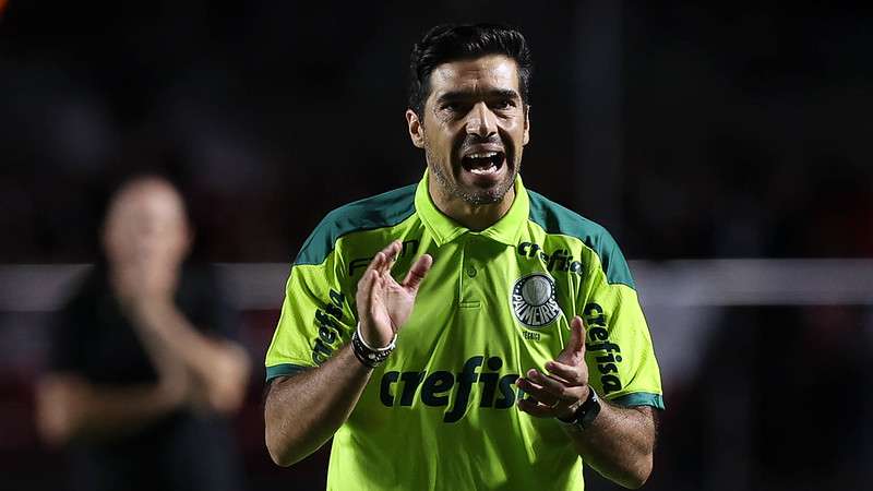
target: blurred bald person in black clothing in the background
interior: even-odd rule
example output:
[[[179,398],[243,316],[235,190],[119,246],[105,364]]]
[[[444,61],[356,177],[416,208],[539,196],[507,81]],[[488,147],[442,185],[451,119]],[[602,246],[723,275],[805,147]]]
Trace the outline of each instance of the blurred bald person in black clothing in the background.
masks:
[[[46,443],[69,451],[74,489],[238,490],[227,418],[250,360],[169,180],[130,179],[109,202],[105,259],[60,313],[37,387]]]

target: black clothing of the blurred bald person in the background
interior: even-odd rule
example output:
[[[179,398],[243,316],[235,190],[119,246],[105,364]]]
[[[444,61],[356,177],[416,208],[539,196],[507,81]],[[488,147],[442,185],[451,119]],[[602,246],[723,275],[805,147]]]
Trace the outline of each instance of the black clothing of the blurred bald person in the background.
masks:
[[[201,333],[236,338],[236,313],[208,268],[183,268],[176,304]],[[52,371],[113,386],[157,382],[157,372],[115,298],[105,267],[88,273],[58,321]],[[111,441],[71,444],[73,489],[240,490],[236,447],[225,418],[176,410]]]

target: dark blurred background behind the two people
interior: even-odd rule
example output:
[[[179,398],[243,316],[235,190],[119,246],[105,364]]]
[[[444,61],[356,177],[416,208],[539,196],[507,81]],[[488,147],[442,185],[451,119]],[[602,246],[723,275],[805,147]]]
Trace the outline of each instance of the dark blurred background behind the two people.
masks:
[[[668,405],[648,489],[869,487],[870,7],[3,3],[3,272],[95,261],[109,187],[155,167],[182,183],[200,259],[287,264],[327,211],[423,172],[403,117],[412,43],[441,22],[507,22],[536,63],[527,187],[607,226],[643,271],[689,259],[857,266],[801,278],[825,292],[861,285],[822,301],[646,306]],[[748,283],[797,287],[758,276]],[[20,288],[11,277],[0,297]],[[683,290],[648,285],[659,298]],[[64,482],[62,456],[27,421],[60,301],[0,306],[0,488]],[[279,306],[240,307],[260,366]],[[268,462],[262,375],[237,421],[251,489],[323,487],[324,451],[290,469]]]

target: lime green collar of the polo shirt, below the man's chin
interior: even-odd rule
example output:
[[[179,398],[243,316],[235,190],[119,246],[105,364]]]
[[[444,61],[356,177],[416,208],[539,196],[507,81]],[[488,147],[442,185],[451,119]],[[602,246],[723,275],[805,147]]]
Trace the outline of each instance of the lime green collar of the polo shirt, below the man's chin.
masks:
[[[515,177],[515,200],[513,200],[510,211],[497,223],[478,232],[471,231],[450,218],[433,204],[433,200],[431,200],[428,192],[428,170],[426,169],[424,177],[419,181],[416,189],[416,213],[433,236],[438,246],[442,247],[468,232],[487,237],[505,246],[515,246],[517,243],[518,236],[522,233],[522,226],[527,220],[530,212],[530,201],[524,184],[522,184],[522,176]]]

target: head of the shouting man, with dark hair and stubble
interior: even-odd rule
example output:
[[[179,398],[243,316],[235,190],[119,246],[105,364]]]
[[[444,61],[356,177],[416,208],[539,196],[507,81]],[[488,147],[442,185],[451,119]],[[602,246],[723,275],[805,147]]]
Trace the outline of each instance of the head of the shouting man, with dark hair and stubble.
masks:
[[[438,191],[468,205],[499,203],[529,140],[530,52],[513,28],[431,29],[411,53],[406,120]]]

